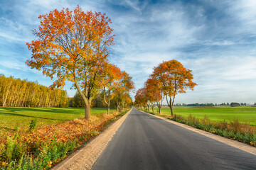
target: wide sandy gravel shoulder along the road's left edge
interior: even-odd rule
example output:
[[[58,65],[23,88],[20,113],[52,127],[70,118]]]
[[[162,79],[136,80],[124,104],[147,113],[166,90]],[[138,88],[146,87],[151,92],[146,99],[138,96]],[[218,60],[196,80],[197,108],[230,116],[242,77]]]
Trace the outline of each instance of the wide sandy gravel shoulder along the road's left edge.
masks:
[[[52,170],[91,169],[131,111],[132,109],[123,115],[122,118],[112,123],[112,125],[101,132],[100,135],[90,140],[84,147],[70,154],[67,159],[53,166]]]

